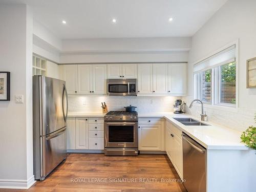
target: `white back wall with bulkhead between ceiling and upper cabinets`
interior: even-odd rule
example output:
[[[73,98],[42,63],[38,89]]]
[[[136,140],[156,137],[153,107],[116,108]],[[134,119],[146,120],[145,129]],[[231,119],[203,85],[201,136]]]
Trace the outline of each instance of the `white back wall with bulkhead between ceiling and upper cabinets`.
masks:
[[[184,62],[190,44],[190,37],[67,39],[60,62]]]

